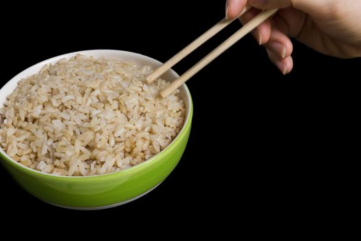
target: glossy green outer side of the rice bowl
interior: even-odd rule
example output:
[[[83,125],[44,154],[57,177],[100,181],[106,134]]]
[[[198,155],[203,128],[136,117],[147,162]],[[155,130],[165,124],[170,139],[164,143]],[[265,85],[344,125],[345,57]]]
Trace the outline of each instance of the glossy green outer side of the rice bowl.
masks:
[[[190,134],[193,105],[171,145],[160,154],[134,167],[111,174],[87,177],[52,176],[24,167],[0,153],[12,177],[36,198],[65,207],[102,207],[124,202],[149,191],[173,171]]]

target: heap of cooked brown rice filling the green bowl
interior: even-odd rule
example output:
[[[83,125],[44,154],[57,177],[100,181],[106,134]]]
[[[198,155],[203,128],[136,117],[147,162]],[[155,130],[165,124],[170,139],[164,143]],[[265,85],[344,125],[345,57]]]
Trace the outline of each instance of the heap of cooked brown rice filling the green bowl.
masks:
[[[185,106],[151,67],[77,55],[19,82],[0,109],[0,145],[47,174],[90,176],[151,158],[177,136]]]

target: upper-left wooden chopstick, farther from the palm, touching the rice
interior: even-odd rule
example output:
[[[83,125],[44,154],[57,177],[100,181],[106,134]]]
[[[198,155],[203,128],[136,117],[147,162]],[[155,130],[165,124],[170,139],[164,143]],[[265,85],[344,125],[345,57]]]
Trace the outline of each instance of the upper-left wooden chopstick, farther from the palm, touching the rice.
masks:
[[[252,8],[250,5],[246,5],[245,8],[243,8],[241,14],[239,14],[239,16],[250,10],[250,8]],[[232,23],[232,21],[234,21],[234,19],[222,19],[221,21],[219,21],[219,23],[217,23],[207,32],[199,36],[198,39],[190,43],[186,48],[175,54],[175,56],[166,61],[166,63],[154,70],[152,74],[149,74],[149,76],[146,77],[146,81],[148,81],[148,83],[152,83],[153,81],[155,81],[155,79],[159,78],[159,76],[164,74],[167,70],[169,70],[182,59],[184,59],[185,56],[193,52],[200,45],[204,44],[206,41],[208,41],[208,39],[212,38],[212,36],[215,36],[215,34],[223,30],[223,28],[226,28],[230,23]]]

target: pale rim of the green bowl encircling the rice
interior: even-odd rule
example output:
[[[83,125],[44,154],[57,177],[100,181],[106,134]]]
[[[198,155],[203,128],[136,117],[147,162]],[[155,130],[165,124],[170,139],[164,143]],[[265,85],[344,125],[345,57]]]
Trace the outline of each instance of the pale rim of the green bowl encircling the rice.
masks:
[[[56,59],[60,60],[63,58],[70,58],[72,56],[75,56],[76,54],[84,54],[87,56],[91,56],[91,53],[98,53],[98,52],[112,52],[112,53],[117,53],[117,54],[130,54],[130,55],[135,55],[138,56],[142,59],[147,59],[149,61],[154,61],[155,64],[158,65],[162,65],[162,62],[157,61],[156,59],[153,59],[149,56],[143,55],[143,54],[139,54],[139,53],[135,53],[135,52],[129,52],[129,51],[124,51],[124,50],[109,50],[109,49],[97,49],[97,50],[80,50],[80,51],[75,51],[75,52],[69,52],[67,54],[61,54],[58,56],[54,56],[50,59],[45,59],[44,61],[41,61],[39,63],[36,63],[28,68],[26,68],[25,70],[21,71],[19,74],[15,75],[14,77],[12,77],[10,79],[10,81],[8,81],[5,85],[3,85],[3,87],[1,87],[0,89],[0,94],[3,91],[3,89],[5,89],[7,87],[7,85],[10,85],[10,83],[12,82],[19,82],[22,78],[19,78],[19,76],[21,76],[24,72],[27,72],[28,70],[31,70],[33,68],[39,67],[39,66],[43,66],[47,63],[50,63],[52,61],[55,61]],[[111,59],[111,58],[109,58]],[[175,75],[176,77],[179,77],[179,74],[177,74],[177,72],[175,72],[173,69],[168,70],[171,71],[171,74]],[[26,77],[25,77],[26,78]],[[56,178],[56,179],[67,179],[67,180],[80,180],[80,179],[94,179],[94,178],[105,178],[105,177],[111,177],[111,176],[115,176],[115,175],[119,175],[119,174],[127,174],[131,171],[135,171],[136,169],[140,169],[141,167],[144,167],[144,165],[149,165],[150,163],[152,163],[153,160],[160,158],[160,156],[162,156],[166,151],[172,149],[172,147],[175,146],[175,143],[177,143],[177,140],[179,140],[180,136],[182,136],[182,134],[184,134],[186,127],[191,125],[191,121],[193,118],[193,101],[192,101],[192,96],[190,95],[190,91],[187,87],[187,85],[184,83],[182,85],[182,87],[184,88],[184,92],[186,94],[186,101],[188,106],[186,108],[186,118],[184,120],[183,126],[180,129],[179,133],[177,134],[177,136],[175,136],[175,138],[171,141],[171,143],[164,148],[162,151],[160,151],[158,154],[156,154],[155,156],[152,156],[151,158],[144,160],[142,163],[139,163],[137,165],[134,165],[132,167],[129,167],[127,169],[122,169],[122,170],[118,170],[118,171],[112,171],[109,172],[107,174],[98,174],[98,175],[93,175],[93,176],[57,176],[54,174],[47,174],[45,172],[42,171],[38,171],[36,169],[32,169],[30,167],[26,167],[24,165],[21,165],[20,163],[18,163],[16,160],[14,160],[13,158],[11,158],[6,151],[3,150],[2,147],[0,147],[0,157],[5,159],[5,161],[10,161],[10,164],[15,165],[17,167],[19,167],[20,169],[23,169],[23,171],[30,171],[32,172],[32,174],[37,174],[40,176],[45,176],[47,178]],[[8,95],[7,95],[8,96]],[[0,103],[0,107],[3,106],[3,103]],[[188,129],[188,128],[187,128]]]

